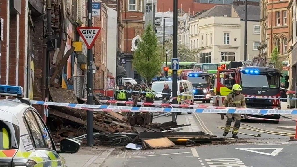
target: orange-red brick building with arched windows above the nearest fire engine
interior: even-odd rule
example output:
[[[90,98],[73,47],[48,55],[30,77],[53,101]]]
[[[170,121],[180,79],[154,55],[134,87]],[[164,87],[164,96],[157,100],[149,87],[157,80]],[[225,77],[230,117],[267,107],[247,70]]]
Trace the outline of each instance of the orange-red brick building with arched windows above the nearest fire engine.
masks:
[[[260,54],[269,58],[272,50],[277,47],[283,59],[289,50],[289,13],[288,0],[261,1],[261,45]]]

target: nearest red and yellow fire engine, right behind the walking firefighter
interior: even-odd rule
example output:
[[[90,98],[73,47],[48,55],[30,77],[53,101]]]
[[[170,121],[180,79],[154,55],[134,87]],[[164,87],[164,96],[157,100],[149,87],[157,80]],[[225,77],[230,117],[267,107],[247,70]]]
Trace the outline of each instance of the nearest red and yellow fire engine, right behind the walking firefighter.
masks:
[[[242,67],[242,62],[230,62],[229,69],[217,71],[214,77],[214,97],[213,106],[221,106],[224,96],[232,91],[232,86],[237,83],[242,87],[242,94],[246,98],[247,108],[260,109],[281,109],[280,97],[280,77],[285,78],[285,88],[288,88],[288,76],[283,76],[277,68],[265,67],[263,58],[254,58],[251,62],[252,66]],[[219,79],[217,78],[219,76]],[[258,97],[258,98],[257,98]],[[264,99],[263,97],[271,98]],[[279,119],[279,114],[258,114],[255,117]],[[274,121],[278,123],[279,121]]]

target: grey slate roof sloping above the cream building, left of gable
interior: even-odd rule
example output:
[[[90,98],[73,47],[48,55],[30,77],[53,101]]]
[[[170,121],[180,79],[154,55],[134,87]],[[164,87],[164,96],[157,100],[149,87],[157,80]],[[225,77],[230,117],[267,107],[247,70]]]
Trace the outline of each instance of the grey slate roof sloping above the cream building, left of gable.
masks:
[[[227,15],[227,17],[231,17],[231,9],[232,6],[228,5],[217,5],[212,7],[210,10],[207,10],[206,12],[203,12],[201,15],[198,15],[194,17],[194,19],[200,19],[200,18],[207,18],[212,16],[224,16]]]

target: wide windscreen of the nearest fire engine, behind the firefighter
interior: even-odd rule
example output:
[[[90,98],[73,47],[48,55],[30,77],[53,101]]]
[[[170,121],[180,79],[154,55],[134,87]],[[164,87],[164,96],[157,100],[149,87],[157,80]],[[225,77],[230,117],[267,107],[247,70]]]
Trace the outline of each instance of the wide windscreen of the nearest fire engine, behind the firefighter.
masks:
[[[279,74],[251,75],[241,73],[242,87],[279,88]]]

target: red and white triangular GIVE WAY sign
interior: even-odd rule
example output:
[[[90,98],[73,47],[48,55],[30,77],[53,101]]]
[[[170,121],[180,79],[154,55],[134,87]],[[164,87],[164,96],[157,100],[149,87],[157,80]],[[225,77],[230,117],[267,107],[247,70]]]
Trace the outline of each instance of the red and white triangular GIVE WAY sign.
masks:
[[[95,40],[100,33],[101,27],[78,27],[76,30],[87,45],[87,48],[91,49],[95,44]]]

